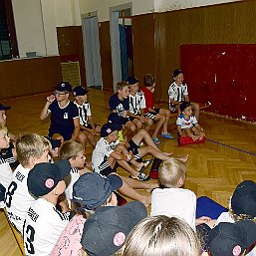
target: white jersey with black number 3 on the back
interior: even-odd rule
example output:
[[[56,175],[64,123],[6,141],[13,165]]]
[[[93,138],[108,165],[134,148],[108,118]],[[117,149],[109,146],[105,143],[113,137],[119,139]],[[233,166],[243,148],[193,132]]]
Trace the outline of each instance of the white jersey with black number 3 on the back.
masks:
[[[44,198],[33,202],[25,218],[23,238],[27,256],[48,256],[69,223],[70,212],[61,213]]]

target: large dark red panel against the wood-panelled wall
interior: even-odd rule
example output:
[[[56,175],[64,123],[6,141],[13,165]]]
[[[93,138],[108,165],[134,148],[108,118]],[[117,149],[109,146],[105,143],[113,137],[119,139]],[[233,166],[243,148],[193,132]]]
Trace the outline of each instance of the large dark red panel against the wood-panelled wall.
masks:
[[[256,45],[182,45],[180,63],[190,100],[211,112],[256,121]]]

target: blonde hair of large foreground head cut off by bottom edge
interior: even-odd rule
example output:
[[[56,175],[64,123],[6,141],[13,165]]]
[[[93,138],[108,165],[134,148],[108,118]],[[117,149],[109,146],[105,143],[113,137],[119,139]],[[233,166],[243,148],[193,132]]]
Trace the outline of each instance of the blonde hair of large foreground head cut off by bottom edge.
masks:
[[[122,256],[198,256],[200,242],[182,220],[164,215],[141,220],[128,235]]]

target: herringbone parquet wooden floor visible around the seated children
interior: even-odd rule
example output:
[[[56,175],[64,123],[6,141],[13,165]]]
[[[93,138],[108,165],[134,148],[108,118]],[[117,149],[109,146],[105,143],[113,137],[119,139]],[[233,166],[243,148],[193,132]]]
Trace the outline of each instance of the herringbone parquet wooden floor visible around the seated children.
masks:
[[[9,130],[15,134],[21,131],[32,131],[46,135],[49,120],[42,122],[39,119],[46,96],[48,94],[2,101],[4,105],[12,107],[7,113]],[[104,124],[107,121],[110,96],[111,93],[90,89],[89,101],[97,124]],[[176,137],[174,122],[173,117],[170,120],[169,129]],[[232,191],[240,181],[245,179],[256,181],[256,126],[203,112],[200,116],[200,125],[208,138],[204,144],[178,146],[176,139],[160,138],[159,148],[172,151],[174,156],[189,153],[185,187],[193,190],[197,196],[207,195],[227,206]],[[91,156],[92,149],[88,147],[86,150],[88,158]],[[120,171],[128,175],[124,170]],[[3,221],[1,212],[0,216]],[[4,224],[0,226],[0,255],[20,255],[18,249],[17,254],[3,254],[3,248],[11,243],[11,235],[6,236],[8,231],[10,230],[6,230]],[[15,243],[12,242],[11,245],[13,248]]]

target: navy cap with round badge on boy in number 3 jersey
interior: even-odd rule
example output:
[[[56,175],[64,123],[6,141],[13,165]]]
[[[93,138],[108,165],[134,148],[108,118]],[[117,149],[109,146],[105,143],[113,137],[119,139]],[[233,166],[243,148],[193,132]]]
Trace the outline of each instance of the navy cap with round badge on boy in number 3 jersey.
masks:
[[[28,175],[28,189],[35,195],[43,196],[51,192],[59,183],[69,175],[71,171],[70,161],[59,160],[56,163],[37,163]]]

